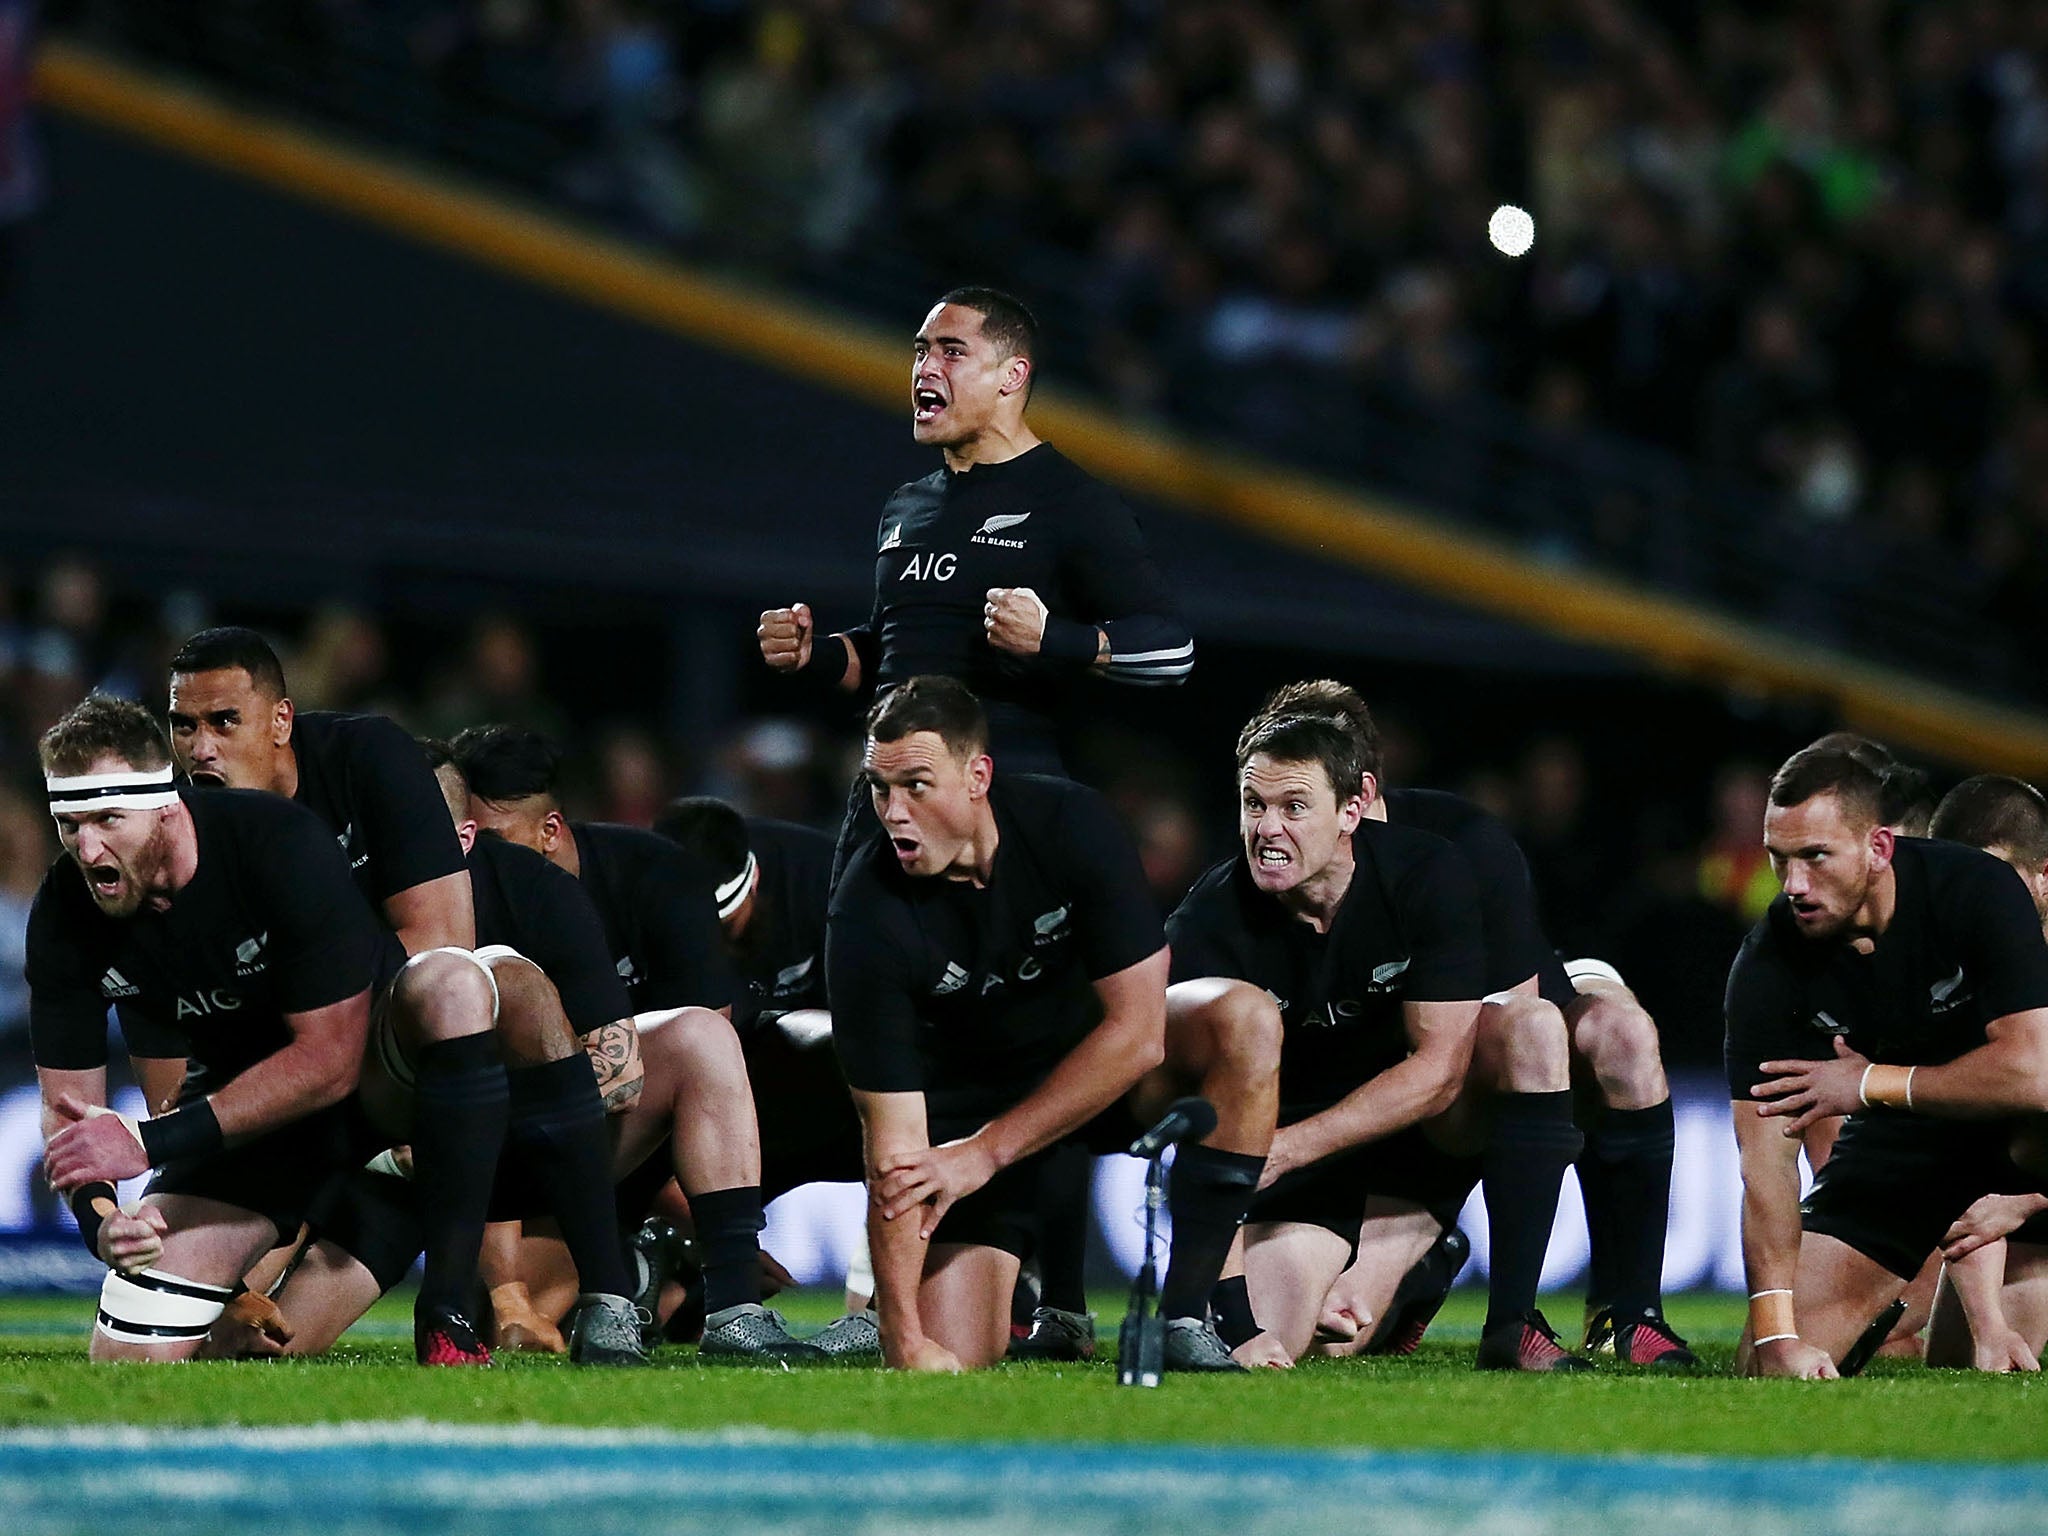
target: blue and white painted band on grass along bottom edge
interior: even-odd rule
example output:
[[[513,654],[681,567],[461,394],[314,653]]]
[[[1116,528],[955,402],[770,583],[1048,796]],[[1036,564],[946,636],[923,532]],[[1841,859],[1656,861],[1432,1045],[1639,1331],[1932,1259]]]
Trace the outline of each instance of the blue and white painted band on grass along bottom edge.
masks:
[[[2048,1466],[365,1423],[0,1434],[10,1536],[2015,1536]]]

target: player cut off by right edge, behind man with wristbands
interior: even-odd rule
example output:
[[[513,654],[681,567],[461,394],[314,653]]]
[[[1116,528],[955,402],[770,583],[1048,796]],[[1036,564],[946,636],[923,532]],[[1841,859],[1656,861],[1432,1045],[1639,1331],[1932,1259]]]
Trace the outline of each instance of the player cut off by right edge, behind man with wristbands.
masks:
[[[1931,838],[1982,848],[2019,874],[2048,934],[2048,799],[2003,774],[1956,784]],[[2048,1346],[2048,1196],[1987,1194],[1942,1239],[1929,1366],[2040,1370]]]

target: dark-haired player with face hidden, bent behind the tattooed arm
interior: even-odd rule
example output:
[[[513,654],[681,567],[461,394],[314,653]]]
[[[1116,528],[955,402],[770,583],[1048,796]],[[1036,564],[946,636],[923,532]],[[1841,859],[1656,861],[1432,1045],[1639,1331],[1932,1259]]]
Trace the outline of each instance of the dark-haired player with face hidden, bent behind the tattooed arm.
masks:
[[[453,768],[455,778],[449,778]],[[567,821],[557,799],[561,754],[537,731],[483,725],[463,731],[442,766],[457,819],[530,848],[582,881],[604,924],[631,1016],[659,1049],[688,1057],[672,1108],[682,1190],[705,1260],[707,1358],[797,1358],[774,1313],[760,1305],[762,1159],[748,1063],[727,1018],[731,963],[719,934],[715,877],[688,850],[643,827]],[[645,1030],[643,1030],[645,1034]],[[643,1145],[641,1155],[653,1151]],[[639,1159],[637,1159],[639,1161]],[[666,1163],[657,1165],[666,1182]],[[653,1190],[647,1190],[649,1198]],[[633,1210],[633,1223],[645,1202]]]

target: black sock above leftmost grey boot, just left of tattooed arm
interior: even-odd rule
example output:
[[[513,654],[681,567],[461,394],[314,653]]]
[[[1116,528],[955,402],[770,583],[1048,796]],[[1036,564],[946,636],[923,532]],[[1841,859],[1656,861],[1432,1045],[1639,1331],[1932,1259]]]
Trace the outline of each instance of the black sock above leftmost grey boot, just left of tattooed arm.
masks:
[[[586,1292],[631,1296],[612,1200],[612,1141],[590,1057],[578,1051],[539,1067],[512,1067],[506,1083],[512,1090],[506,1137],[561,1227],[575,1282]]]

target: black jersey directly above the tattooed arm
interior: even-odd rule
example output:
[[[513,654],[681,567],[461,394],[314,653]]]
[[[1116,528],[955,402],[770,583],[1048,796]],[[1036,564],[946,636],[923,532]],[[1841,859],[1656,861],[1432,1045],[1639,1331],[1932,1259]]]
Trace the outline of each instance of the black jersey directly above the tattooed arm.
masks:
[[[442,809],[446,819],[446,809]],[[469,850],[477,948],[508,944],[555,983],[578,1034],[633,1016],[604,924],[584,883],[530,848],[483,834]]]

